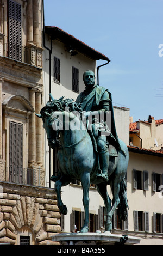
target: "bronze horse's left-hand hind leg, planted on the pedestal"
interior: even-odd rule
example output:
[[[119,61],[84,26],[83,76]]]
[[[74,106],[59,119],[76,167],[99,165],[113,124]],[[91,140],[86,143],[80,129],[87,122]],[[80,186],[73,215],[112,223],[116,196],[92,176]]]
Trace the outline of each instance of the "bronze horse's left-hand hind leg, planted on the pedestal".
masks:
[[[104,200],[104,204],[105,204],[105,209],[106,209],[106,225],[105,225],[105,231],[110,231],[109,229],[109,226],[112,225],[112,222],[110,223],[110,220],[109,220],[109,217],[108,217],[108,214],[111,210],[111,199],[108,195],[108,191],[107,191],[107,184],[106,183],[99,183],[99,184],[96,184],[97,186],[97,190],[98,190],[98,193],[101,195],[101,197],[103,198]]]

